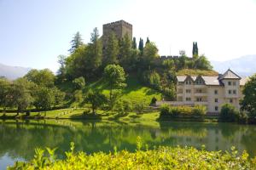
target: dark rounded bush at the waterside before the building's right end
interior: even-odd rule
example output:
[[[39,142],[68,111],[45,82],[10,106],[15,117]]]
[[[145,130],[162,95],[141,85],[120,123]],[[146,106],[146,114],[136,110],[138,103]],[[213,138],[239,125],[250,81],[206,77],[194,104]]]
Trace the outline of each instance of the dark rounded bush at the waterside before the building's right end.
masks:
[[[231,104],[224,104],[221,107],[219,119],[222,122],[238,122],[239,120],[239,111],[236,110],[236,107]]]

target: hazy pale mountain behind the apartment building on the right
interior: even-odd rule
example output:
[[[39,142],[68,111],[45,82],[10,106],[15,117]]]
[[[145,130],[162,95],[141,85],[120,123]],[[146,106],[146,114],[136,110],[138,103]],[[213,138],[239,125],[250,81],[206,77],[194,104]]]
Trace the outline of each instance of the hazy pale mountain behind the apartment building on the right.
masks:
[[[224,73],[229,68],[241,77],[252,76],[256,73],[256,54],[245,55],[237,59],[226,61],[211,61],[213,69],[219,73]]]

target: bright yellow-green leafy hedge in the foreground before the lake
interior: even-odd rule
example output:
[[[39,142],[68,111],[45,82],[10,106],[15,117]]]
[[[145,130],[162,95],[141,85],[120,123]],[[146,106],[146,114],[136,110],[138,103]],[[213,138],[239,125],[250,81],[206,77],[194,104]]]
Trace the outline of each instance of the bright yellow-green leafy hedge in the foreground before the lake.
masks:
[[[15,162],[11,169],[255,169],[256,158],[250,159],[246,151],[237,154],[231,151],[207,151],[202,147],[158,147],[154,150],[142,150],[140,138],[137,140],[137,151],[114,151],[113,153],[97,152],[91,155],[71,150],[66,152],[64,160],[57,160],[55,149],[36,150],[36,155],[29,162]]]

